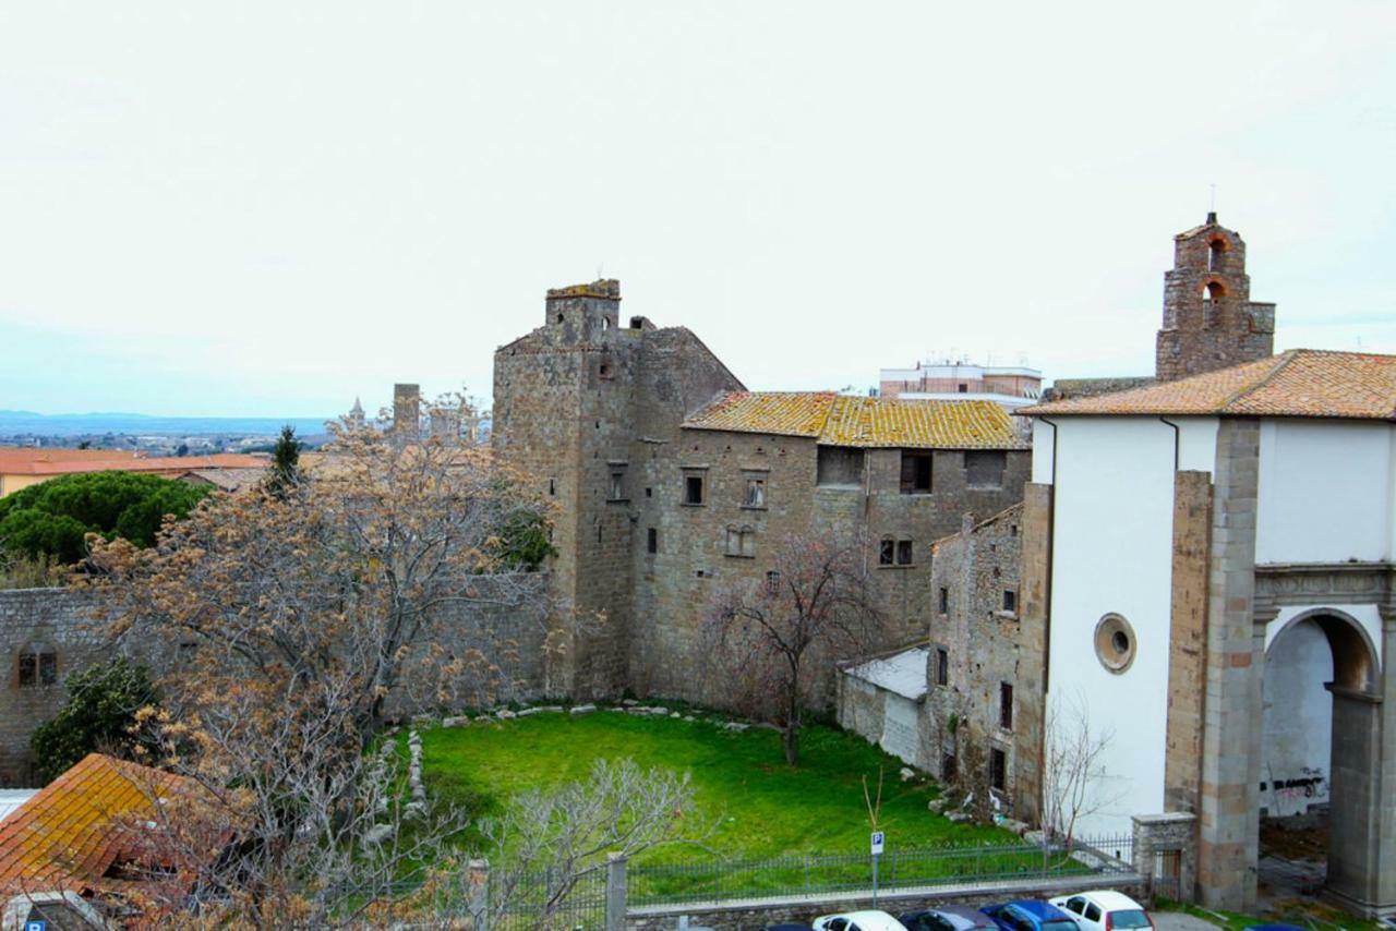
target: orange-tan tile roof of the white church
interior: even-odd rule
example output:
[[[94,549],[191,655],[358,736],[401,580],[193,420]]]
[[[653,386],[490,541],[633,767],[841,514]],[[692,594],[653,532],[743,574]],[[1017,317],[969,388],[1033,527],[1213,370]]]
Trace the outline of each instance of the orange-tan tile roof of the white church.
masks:
[[[1396,420],[1396,356],[1291,349],[1191,378],[1054,401],[1019,413]]]

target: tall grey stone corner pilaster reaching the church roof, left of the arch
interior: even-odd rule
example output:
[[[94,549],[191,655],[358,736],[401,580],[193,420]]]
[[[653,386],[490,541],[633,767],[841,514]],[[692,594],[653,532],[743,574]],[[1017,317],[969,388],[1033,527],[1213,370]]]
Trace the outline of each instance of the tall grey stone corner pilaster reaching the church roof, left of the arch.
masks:
[[[1203,904],[1255,906],[1259,847],[1263,639],[1252,620],[1259,422],[1224,419],[1217,430],[1208,579],[1206,691],[1198,891]]]

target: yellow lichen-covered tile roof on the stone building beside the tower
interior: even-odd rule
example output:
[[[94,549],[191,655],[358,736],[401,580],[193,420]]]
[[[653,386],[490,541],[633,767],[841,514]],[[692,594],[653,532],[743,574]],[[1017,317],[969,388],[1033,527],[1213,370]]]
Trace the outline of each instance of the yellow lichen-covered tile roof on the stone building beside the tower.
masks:
[[[993,401],[734,391],[697,412],[684,427],[811,437],[833,447],[1027,448],[1008,413]]]

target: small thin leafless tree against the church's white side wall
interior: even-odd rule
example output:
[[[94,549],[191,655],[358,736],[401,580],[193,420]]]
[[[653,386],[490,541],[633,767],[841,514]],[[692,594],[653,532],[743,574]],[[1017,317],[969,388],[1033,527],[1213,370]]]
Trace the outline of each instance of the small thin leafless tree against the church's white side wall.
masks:
[[[1083,694],[1050,701],[1043,727],[1043,828],[1068,847],[1078,821],[1118,798],[1104,764],[1113,738],[1114,731],[1092,726]]]

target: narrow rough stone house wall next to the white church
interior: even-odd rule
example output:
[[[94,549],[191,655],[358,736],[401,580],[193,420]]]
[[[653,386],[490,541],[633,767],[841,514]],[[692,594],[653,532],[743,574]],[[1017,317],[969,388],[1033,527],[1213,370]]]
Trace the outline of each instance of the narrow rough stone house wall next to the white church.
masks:
[[[1018,695],[1022,521],[1022,504],[980,523],[966,514],[959,533],[935,542],[931,564],[935,614],[930,625],[926,702],[931,772],[944,777],[942,759],[965,758],[973,741],[986,768],[994,751],[1004,755],[1004,790],[1009,798],[1016,762],[1013,727],[1023,701]],[[945,611],[940,610],[942,592]],[[1005,593],[1011,597],[1005,599]],[[941,649],[949,660],[945,684],[938,681]],[[1001,701],[1004,685],[1012,690],[1007,717]],[[953,733],[951,716],[960,722]],[[984,780],[988,782],[987,773]]]

